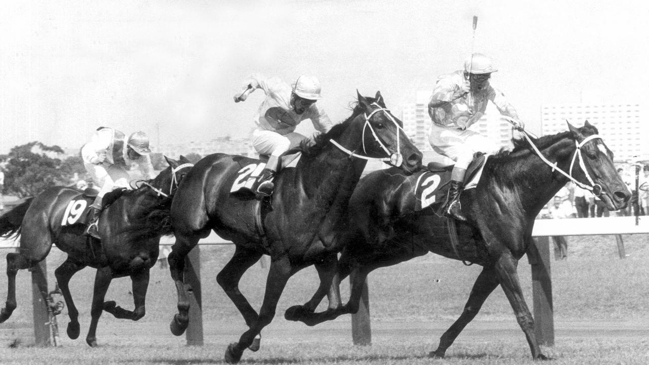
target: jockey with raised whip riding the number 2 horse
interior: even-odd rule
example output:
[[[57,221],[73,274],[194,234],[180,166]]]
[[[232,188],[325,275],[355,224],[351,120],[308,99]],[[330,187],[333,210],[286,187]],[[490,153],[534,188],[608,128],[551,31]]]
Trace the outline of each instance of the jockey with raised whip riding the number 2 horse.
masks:
[[[474,153],[493,153],[500,148],[482,134],[470,131],[469,127],[482,118],[489,101],[501,114],[519,120],[515,108],[502,92],[489,84],[489,77],[495,71],[491,58],[474,53],[464,62],[464,70],[437,79],[428,103],[428,114],[433,121],[428,138],[430,145],[435,152],[456,162],[451,172],[445,212],[458,220],[467,220],[461,211],[459,194]],[[522,128],[523,124],[518,123]]]

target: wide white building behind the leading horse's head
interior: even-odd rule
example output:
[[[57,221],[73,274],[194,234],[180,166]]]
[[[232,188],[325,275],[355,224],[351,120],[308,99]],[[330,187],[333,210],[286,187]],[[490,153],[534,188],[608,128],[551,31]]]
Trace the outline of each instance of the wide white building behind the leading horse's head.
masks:
[[[649,160],[649,124],[643,123],[639,103],[557,104],[541,107],[543,134],[567,131],[566,120],[581,127],[588,120],[604,143],[613,151],[616,162]]]

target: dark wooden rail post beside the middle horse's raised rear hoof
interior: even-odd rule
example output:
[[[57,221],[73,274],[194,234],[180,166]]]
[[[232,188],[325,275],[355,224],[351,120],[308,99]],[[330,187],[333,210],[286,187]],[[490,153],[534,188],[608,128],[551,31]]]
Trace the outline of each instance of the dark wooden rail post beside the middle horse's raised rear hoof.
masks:
[[[196,245],[185,260],[185,284],[190,291],[190,323],[185,336],[188,346],[203,345],[202,294],[201,294],[201,249]]]

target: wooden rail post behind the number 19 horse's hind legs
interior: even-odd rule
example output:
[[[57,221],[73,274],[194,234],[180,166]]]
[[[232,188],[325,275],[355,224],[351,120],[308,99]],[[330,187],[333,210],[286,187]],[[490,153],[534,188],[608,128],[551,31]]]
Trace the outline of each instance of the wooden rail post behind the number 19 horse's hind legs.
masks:
[[[47,314],[47,262],[34,265],[32,272],[32,303],[34,307],[34,342],[36,346],[51,346]]]

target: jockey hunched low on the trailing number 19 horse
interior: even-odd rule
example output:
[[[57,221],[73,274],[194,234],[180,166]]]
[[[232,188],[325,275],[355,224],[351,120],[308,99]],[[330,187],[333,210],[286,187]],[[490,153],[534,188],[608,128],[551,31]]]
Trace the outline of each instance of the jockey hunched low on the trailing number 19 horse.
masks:
[[[92,176],[94,186],[99,189],[91,206],[91,220],[85,232],[95,238],[100,238],[97,221],[103,207],[104,195],[116,188],[130,188],[127,161],[138,163],[143,179],[154,178],[153,164],[149,157],[149,137],[144,132],[134,132],[127,143],[124,142],[123,132],[99,127],[92,140],[81,147],[84,167]]]

